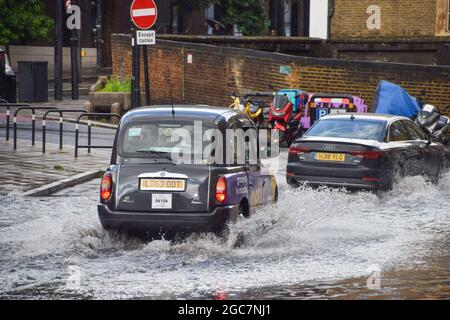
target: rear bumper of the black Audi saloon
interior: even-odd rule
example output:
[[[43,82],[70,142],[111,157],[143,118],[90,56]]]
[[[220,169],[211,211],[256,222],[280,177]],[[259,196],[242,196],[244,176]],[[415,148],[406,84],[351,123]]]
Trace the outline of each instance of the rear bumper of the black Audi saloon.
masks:
[[[384,190],[389,189],[390,187],[390,182],[385,178],[382,178],[380,171],[375,169],[302,169],[305,168],[302,168],[297,164],[287,166],[287,183],[289,185],[298,186],[307,184],[310,186],[345,187],[348,189],[367,190]],[[341,173],[342,176],[336,177],[336,172]]]

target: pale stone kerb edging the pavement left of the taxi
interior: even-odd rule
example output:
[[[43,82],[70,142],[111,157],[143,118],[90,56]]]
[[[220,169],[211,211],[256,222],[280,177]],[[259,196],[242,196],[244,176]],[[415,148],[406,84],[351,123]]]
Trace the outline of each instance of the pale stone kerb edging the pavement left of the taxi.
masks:
[[[24,192],[23,195],[25,197],[46,197],[66,188],[73,187],[78,184],[94,180],[96,178],[100,178],[103,173],[104,171],[102,170],[80,173],[76,176],[72,176],[64,180],[47,184],[37,189]]]

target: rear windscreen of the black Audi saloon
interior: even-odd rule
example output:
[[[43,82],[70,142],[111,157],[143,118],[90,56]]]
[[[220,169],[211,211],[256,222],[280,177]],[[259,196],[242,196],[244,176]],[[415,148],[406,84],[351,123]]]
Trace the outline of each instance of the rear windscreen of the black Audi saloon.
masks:
[[[323,119],[306,134],[308,137],[379,140],[385,123],[377,120]]]

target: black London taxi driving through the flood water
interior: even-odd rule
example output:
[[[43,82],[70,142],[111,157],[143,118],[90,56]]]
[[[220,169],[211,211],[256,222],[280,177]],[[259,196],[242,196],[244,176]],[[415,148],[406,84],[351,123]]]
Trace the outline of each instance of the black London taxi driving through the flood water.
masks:
[[[194,135],[194,121],[224,137],[227,129],[255,129],[246,114],[227,108],[160,106],[128,112],[101,182],[98,214],[105,229],[220,232],[229,221],[277,200],[275,177],[259,160],[234,165],[175,162],[171,154],[179,151],[171,136],[177,129]]]

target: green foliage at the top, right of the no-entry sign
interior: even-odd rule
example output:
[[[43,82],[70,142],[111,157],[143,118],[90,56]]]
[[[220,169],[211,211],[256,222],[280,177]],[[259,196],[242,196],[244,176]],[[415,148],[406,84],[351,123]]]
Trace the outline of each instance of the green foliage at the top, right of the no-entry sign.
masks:
[[[223,21],[236,25],[244,36],[257,36],[267,31],[269,19],[261,0],[219,0]]]

